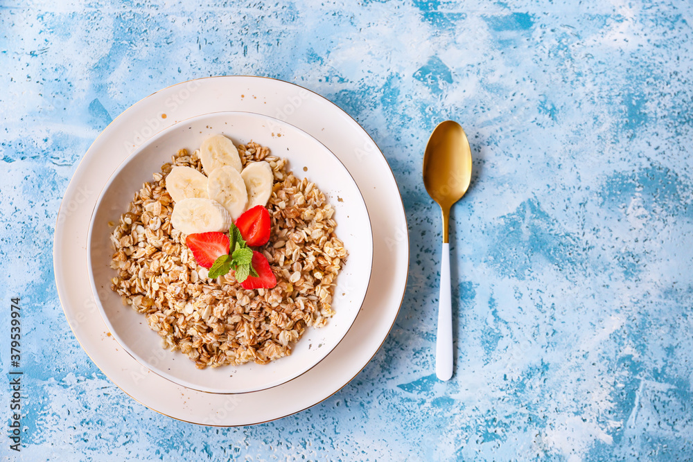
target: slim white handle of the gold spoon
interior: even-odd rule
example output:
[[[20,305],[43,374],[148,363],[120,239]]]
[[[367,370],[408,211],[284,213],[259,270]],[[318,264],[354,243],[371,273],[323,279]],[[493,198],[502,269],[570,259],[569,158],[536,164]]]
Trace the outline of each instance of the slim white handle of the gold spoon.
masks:
[[[450,300],[450,244],[443,243],[440,261],[438,335],[435,346],[435,375],[439,380],[453,376],[453,309]]]

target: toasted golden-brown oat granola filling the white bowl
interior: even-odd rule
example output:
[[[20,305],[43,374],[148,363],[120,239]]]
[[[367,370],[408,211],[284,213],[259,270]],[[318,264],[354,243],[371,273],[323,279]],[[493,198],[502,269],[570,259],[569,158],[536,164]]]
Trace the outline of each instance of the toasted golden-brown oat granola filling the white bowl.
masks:
[[[239,145],[238,153],[243,166],[261,160],[272,166],[272,238],[258,250],[277,277],[273,289],[244,290],[231,273],[208,278],[185,235],[171,226],[166,175],[173,166],[202,172],[197,151],[179,150],[161,166],[111,234],[117,272],[111,289],[146,316],[164,348],[180,350],[198,368],[267,364],[290,355],[307,327],[322,327],[333,316],[335,281],[347,258],[335,235],[334,209],[315,184],[295,177],[285,159],[261,145]]]

